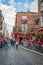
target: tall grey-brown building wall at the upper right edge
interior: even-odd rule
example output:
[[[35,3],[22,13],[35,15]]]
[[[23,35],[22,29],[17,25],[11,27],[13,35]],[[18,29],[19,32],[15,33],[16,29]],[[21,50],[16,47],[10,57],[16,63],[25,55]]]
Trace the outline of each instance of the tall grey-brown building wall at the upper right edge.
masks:
[[[38,11],[39,11],[39,27],[43,27],[43,0],[38,0]]]

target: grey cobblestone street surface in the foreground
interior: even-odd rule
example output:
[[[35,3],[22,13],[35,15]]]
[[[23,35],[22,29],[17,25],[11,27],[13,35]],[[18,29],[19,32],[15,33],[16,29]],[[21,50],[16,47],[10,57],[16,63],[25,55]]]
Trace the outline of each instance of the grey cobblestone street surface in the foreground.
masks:
[[[0,65],[43,65],[43,56],[14,47],[0,49]]]

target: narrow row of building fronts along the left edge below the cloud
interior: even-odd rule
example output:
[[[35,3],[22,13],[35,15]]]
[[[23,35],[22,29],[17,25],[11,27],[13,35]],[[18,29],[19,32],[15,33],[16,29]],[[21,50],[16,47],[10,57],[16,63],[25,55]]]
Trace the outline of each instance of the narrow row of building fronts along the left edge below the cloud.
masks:
[[[2,14],[2,11],[0,10],[0,36],[5,35],[5,22],[4,22],[4,17]]]

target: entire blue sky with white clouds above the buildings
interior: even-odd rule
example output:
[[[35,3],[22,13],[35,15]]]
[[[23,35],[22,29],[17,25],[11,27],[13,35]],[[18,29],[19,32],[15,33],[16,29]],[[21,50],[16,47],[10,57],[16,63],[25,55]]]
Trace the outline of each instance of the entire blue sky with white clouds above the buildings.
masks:
[[[38,0],[0,0],[7,30],[12,32],[17,12],[38,12]]]

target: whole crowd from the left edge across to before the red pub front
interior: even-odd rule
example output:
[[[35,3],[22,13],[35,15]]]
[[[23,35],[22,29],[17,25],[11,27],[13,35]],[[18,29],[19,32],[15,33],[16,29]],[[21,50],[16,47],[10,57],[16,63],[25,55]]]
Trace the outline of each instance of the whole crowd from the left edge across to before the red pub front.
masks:
[[[28,40],[28,39],[21,39],[21,40],[18,40],[18,39],[15,39],[15,38],[12,38],[12,39],[9,39],[9,38],[4,38],[4,40],[0,40],[0,48],[8,48],[8,47],[11,47],[11,46],[16,46],[16,49],[18,48],[18,46],[26,46],[26,47],[29,47],[30,45],[33,44],[33,40]],[[41,47],[41,46],[39,46]]]

